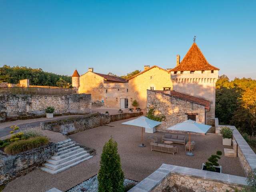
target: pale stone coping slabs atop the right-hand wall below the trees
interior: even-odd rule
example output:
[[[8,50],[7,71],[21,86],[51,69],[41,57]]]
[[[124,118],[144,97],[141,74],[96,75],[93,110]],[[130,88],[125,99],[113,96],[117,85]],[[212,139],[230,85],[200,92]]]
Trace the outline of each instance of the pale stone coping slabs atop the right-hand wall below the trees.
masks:
[[[248,145],[246,140],[244,140],[243,136],[240,134],[240,132],[236,129],[235,126],[229,126],[229,125],[219,125],[219,128],[221,127],[229,127],[233,130],[233,138],[236,140],[236,143],[240,147],[242,153],[244,154],[244,158],[248,162],[248,165],[253,170],[256,168],[256,154],[252,150],[252,148]]]

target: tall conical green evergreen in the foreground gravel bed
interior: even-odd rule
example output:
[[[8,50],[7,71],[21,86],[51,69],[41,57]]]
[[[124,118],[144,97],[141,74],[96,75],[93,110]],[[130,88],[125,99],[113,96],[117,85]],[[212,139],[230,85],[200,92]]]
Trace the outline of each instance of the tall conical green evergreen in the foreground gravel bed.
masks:
[[[124,172],[122,171],[117,142],[111,137],[103,147],[98,173],[99,192],[124,192]]]

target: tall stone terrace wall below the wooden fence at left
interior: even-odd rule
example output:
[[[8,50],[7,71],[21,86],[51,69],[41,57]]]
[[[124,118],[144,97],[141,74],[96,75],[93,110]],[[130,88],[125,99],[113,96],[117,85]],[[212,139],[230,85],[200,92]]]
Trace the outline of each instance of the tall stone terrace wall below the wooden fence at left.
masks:
[[[0,94],[0,120],[45,116],[44,110],[48,106],[55,108],[54,114],[88,113],[91,109],[91,95]]]

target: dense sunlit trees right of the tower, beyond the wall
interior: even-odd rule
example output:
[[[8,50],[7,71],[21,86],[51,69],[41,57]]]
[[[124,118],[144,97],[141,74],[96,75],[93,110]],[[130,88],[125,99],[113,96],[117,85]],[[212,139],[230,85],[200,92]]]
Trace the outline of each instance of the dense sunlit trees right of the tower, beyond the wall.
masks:
[[[216,82],[216,114],[220,124],[234,125],[243,134],[256,133],[256,80],[226,75]]]

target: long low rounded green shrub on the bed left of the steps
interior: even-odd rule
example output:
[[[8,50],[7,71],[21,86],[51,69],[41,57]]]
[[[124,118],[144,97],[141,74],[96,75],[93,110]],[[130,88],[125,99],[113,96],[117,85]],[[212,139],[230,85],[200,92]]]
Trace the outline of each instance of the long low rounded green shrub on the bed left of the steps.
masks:
[[[4,148],[4,152],[8,154],[18,154],[32,148],[37,148],[48,144],[49,140],[46,137],[34,137],[27,140],[18,140]]]

